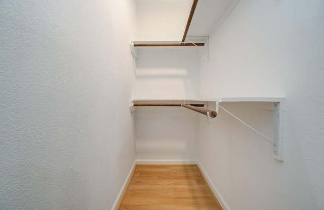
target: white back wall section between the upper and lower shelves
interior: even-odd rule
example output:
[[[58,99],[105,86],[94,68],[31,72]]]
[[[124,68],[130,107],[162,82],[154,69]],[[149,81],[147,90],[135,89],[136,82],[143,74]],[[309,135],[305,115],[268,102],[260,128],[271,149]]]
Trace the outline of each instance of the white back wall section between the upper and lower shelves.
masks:
[[[136,60],[137,98],[195,98],[199,94],[197,49],[141,47]]]

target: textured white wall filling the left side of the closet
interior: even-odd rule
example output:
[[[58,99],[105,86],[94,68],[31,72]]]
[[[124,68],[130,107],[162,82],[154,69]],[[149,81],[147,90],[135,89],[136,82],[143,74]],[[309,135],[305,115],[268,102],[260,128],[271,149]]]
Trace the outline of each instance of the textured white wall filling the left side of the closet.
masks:
[[[135,160],[134,11],[1,1],[0,209],[111,208]]]

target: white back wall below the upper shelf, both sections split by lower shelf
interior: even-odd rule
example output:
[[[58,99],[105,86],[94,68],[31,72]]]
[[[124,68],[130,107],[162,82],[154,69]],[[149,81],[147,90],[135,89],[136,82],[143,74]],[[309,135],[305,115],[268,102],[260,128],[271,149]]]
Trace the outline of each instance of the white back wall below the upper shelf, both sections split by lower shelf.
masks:
[[[199,59],[195,47],[138,47],[137,58],[137,98],[198,96]],[[197,159],[196,113],[182,107],[141,107],[134,117],[137,159]]]

